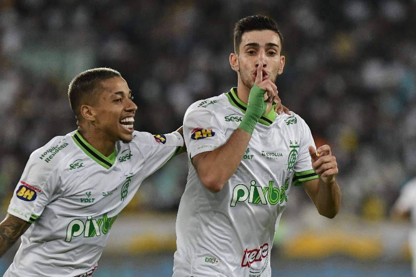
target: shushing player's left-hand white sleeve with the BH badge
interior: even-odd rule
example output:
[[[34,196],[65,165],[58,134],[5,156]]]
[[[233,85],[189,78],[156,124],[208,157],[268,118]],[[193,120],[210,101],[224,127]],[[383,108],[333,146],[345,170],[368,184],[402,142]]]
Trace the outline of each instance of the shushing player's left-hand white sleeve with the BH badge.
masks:
[[[189,157],[193,158],[220,147],[227,138],[222,124],[210,109],[193,107],[185,112],[184,140]]]

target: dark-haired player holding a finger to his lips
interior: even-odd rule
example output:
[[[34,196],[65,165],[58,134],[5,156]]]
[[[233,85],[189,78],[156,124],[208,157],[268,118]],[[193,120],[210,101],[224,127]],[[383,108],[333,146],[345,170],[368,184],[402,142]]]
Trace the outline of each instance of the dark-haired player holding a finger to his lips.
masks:
[[[277,23],[250,16],[234,28],[237,87],[185,113],[189,174],[176,221],[174,277],[270,277],[270,253],[293,186],[333,218],[341,192],[328,145],[316,150],[297,114],[277,115],[270,92],[285,64]]]

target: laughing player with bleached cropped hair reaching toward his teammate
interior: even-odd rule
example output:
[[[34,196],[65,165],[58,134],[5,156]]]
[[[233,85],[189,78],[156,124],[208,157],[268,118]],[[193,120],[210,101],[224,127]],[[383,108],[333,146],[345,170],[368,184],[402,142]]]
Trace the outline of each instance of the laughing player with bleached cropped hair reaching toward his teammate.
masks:
[[[118,213],[183,149],[182,128],[133,129],[137,106],[116,70],[80,73],[68,96],[78,129],[30,155],[0,224],[0,256],[22,239],[5,277],[91,276]]]

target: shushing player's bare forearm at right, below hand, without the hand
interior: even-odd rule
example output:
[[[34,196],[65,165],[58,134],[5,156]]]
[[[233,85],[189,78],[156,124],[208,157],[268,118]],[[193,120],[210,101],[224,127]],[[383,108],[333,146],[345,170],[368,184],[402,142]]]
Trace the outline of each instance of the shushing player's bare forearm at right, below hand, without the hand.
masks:
[[[328,218],[334,218],[341,206],[341,190],[334,178],[326,184],[319,179],[319,189],[315,203],[318,212]]]

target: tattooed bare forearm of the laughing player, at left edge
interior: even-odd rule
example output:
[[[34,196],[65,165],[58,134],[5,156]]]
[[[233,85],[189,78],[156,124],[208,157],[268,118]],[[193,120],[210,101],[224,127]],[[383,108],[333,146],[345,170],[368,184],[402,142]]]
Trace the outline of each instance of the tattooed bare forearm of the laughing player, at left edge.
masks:
[[[6,218],[0,223],[0,258],[29,227],[30,223],[7,213]]]

